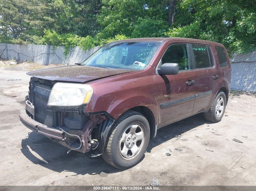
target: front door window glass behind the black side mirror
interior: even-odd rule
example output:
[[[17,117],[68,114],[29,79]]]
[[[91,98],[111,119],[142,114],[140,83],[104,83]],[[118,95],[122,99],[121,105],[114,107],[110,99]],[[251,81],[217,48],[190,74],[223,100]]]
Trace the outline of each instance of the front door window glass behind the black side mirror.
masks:
[[[162,63],[177,63],[179,70],[188,70],[188,48],[186,44],[171,45],[162,57]]]

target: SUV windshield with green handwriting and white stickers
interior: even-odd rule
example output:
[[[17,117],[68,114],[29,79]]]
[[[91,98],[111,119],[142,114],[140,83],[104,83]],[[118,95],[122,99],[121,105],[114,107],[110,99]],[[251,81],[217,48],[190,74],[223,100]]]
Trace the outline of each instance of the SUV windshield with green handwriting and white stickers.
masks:
[[[143,70],[149,65],[160,45],[161,42],[110,43],[93,53],[81,65]]]

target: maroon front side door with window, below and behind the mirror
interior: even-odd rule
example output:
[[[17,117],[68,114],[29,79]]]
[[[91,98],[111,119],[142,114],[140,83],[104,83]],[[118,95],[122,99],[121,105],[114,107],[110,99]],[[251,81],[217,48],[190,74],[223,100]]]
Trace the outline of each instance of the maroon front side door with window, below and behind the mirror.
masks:
[[[189,58],[187,44],[174,44],[167,48],[160,65],[178,63],[176,75],[156,75],[158,82],[159,127],[191,115],[195,99],[195,72]],[[159,67],[159,66],[158,66]]]

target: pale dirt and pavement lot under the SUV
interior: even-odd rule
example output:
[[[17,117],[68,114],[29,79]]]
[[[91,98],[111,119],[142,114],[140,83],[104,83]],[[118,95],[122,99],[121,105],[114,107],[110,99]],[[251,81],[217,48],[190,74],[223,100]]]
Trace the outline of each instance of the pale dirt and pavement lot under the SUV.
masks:
[[[66,154],[19,122],[29,79],[24,71],[0,70],[1,185],[149,185],[152,178],[161,186],[256,185],[256,94],[233,92],[219,123],[198,114],[159,129],[143,160],[118,170],[101,157]]]

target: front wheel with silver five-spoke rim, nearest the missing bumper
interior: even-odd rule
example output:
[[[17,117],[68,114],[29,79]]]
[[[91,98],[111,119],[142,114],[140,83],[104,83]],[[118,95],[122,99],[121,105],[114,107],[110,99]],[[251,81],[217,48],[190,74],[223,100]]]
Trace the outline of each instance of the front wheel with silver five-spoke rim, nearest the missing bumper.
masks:
[[[143,157],[149,138],[147,119],[141,113],[129,110],[111,127],[102,157],[116,168],[132,167]]]

